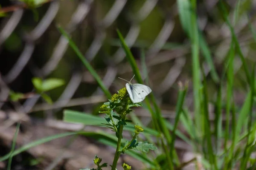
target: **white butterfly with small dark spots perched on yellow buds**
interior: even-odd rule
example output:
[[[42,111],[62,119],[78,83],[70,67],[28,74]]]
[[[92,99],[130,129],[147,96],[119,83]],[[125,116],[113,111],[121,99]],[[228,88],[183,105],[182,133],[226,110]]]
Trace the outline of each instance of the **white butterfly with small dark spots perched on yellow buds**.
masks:
[[[131,80],[134,78],[134,76],[131,78]],[[118,78],[122,79],[120,77],[118,77]],[[125,80],[125,79],[122,79],[122,80]],[[130,96],[130,99],[133,103],[142,102],[145,99],[145,97],[151,93],[152,90],[151,90],[151,88],[149,88],[146,85],[131,84],[131,80],[129,82],[127,80],[125,80],[126,82],[128,82],[125,84],[125,87]]]

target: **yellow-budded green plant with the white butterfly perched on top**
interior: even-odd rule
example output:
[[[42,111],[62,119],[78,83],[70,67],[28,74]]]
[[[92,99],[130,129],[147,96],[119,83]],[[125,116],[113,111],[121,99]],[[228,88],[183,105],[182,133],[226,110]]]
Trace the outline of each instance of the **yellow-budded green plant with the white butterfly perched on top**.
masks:
[[[127,140],[125,143],[122,142],[122,133],[124,127],[127,126],[127,123],[131,123],[132,121],[127,119],[127,115],[132,112],[132,107],[141,107],[142,103],[133,103],[131,102],[130,97],[128,96],[128,92],[126,88],[122,88],[118,91],[117,94],[113,94],[109,102],[105,102],[102,107],[100,113],[105,113],[105,120],[107,123],[102,123],[106,127],[110,128],[112,131],[115,132],[117,143],[116,143],[116,153],[113,158],[113,164],[111,165],[112,170],[116,170],[117,161],[121,154],[124,154],[128,150],[136,150],[136,151],[143,151],[148,153],[149,150],[156,150],[157,147],[154,147],[153,144],[145,142],[138,142],[137,136],[144,131],[144,129],[140,125],[135,125],[135,130],[133,133],[133,137],[131,140]],[[68,119],[67,117],[71,117],[69,113],[64,114],[64,120],[67,122],[74,122],[72,119]],[[98,157],[96,157],[98,160]],[[101,160],[101,159],[100,159]],[[98,162],[97,170],[101,170],[102,167],[107,167],[107,164],[99,165],[101,161],[95,161],[94,163]],[[125,165],[124,169],[128,169],[129,166]],[[94,170],[94,169],[92,169]]]

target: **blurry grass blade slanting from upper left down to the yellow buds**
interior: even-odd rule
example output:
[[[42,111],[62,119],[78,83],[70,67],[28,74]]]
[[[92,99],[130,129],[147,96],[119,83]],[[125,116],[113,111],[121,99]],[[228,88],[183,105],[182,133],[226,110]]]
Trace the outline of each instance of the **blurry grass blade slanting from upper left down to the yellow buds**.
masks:
[[[108,97],[108,99],[111,98],[111,93],[108,91],[108,88],[105,87],[104,83],[102,82],[101,78],[99,77],[99,75],[97,74],[97,72],[94,70],[94,68],[90,65],[90,63],[87,61],[87,59],[85,59],[84,55],[81,53],[81,51],[79,50],[79,48],[76,46],[75,42],[73,42],[71,40],[71,38],[69,37],[69,35],[64,31],[63,28],[58,27],[59,31],[61,32],[61,34],[68,40],[68,43],[70,45],[71,48],[73,48],[73,50],[75,51],[76,55],[79,57],[79,59],[81,59],[81,61],[83,62],[84,66],[88,69],[88,71],[90,71],[90,73],[93,75],[93,77],[96,79],[96,81],[98,82],[99,86],[102,88],[102,91],[105,93],[105,95]]]

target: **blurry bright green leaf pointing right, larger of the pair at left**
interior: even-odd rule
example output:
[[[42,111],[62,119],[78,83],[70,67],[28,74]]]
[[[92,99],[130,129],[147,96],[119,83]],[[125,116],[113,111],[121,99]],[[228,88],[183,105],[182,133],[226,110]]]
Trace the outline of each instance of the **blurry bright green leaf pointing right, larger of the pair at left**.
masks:
[[[43,81],[41,88],[42,91],[50,91],[54,88],[58,88],[62,85],[64,85],[65,82],[63,79],[58,79],[58,78],[49,78]]]

